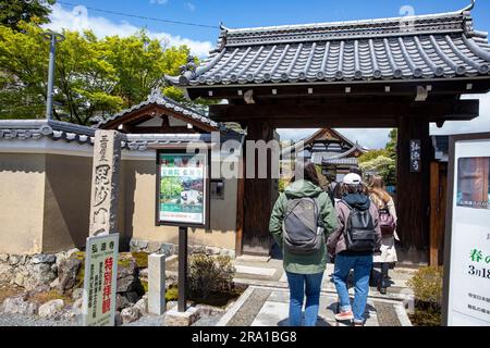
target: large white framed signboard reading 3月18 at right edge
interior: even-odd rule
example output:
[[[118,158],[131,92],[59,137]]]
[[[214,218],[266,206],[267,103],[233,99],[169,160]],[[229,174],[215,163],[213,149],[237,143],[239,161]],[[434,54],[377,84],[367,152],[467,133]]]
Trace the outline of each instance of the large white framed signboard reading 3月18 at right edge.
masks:
[[[443,324],[490,326],[490,134],[450,139]]]

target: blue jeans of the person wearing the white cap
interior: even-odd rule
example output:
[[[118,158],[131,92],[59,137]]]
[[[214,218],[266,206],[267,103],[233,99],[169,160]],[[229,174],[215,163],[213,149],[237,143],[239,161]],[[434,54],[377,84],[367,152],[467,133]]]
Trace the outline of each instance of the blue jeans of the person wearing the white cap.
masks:
[[[351,311],[354,314],[354,322],[364,323],[364,312],[366,310],[367,297],[369,294],[369,276],[372,268],[372,256],[346,256],[335,257],[335,269],[333,272],[333,283],[340,298],[341,311]],[[351,306],[348,297],[347,277],[348,272],[354,270],[355,295]]]

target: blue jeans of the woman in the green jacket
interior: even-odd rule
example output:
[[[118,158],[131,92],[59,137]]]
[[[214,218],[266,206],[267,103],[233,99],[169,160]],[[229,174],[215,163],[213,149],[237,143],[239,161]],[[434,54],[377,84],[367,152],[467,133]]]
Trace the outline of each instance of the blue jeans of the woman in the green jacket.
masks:
[[[306,295],[305,326],[315,326],[320,307],[320,289],[323,273],[296,274],[286,272],[286,275],[291,293],[290,325],[302,325],[303,302]]]

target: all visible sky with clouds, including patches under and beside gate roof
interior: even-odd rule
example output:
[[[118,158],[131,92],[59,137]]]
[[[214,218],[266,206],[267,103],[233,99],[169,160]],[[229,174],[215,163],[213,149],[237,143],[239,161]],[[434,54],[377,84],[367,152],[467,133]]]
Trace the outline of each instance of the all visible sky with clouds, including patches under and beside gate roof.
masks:
[[[69,4],[66,3],[69,2]],[[51,14],[53,29],[87,29],[97,36],[132,35],[146,28],[151,37],[168,45],[187,45],[194,54],[204,58],[216,44],[219,29],[176,25],[144,18],[125,17],[96,9],[130,13],[138,16],[189,22],[231,28],[338,22],[431,14],[461,10],[470,0],[60,0]],[[490,32],[490,1],[477,0],[473,11],[475,27]],[[480,117],[465,123],[446,123],[432,134],[490,132],[490,95],[479,96]],[[328,126],[326,124],[326,126]],[[383,147],[388,129],[340,129],[345,136],[369,148]],[[298,139],[315,129],[280,129],[281,138]]]

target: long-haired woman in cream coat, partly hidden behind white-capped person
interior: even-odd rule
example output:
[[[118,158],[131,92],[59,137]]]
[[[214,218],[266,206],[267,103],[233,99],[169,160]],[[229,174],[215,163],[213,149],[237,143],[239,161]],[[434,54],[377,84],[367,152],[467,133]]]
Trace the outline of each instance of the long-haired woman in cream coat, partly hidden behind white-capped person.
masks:
[[[381,276],[378,279],[378,290],[387,294],[388,272],[390,264],[397,261],[395,239],[400,240],[396,234],[396,209],[393,198],[388,194],[383,178],[381,176],[371,176],[368,182],[369,198],[378,208],[380,214],[380,225],[382,233],[381,254],[375,257],[375,263],[381,265]]]

